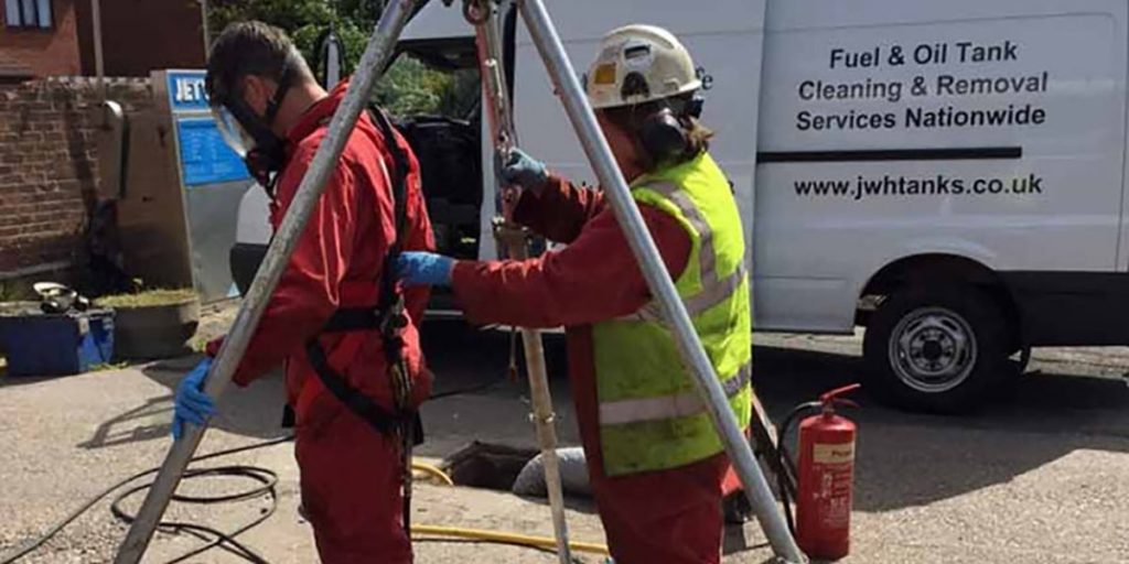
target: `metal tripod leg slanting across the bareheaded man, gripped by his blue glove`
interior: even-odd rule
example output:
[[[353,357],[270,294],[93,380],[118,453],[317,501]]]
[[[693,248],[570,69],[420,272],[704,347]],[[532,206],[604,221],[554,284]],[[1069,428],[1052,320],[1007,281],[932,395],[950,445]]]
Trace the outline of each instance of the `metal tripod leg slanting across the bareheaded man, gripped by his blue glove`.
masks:
[[[317,153],[309,165],[309,170],[303,177],[294,202],[290,204],[282,224],[279,226],[263,264],[259,268],[259,274],[255,275],[255,280],[243,300],[231,332],[224,341],[224,346],[212,364],[211,372],[204,384],[204,391],[209,396],[219,397],[231,380],[231,374],[247,349],[247,343],[251,341],[255,326],[259,325],[266,302],[290,261],[298,237],[301,236],[314,205],[325,190],[325,182],[338,159],[341,158],[345,141],[357,124],[357,117],[370,99],[373,87],[383,72],[388,55],[417,3],[418,0],[393,0],[388,2],[380,16],[380,21],[373,32],[373,37],[365,49],[360,64],[357,65],[357,73],[349,83],[344,100],[333,114],[329,133],[322,146],[318,147]],[[203,432],[203,428],[189,424],[185,428],[184,437],[173,443],[156,482],[146,496],[145,504],[130,526],[125,540],[117,549],[117,556],[114,558],[116,564],[132,564],[139,562],[145,555],[149,540],[157,529],[157,523],[164,515],[189,460],[200,444]]]

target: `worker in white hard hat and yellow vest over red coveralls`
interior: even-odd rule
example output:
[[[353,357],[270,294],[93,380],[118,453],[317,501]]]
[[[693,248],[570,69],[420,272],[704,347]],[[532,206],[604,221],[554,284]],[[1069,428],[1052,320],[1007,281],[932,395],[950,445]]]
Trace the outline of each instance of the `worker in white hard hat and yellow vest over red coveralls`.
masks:
[[[749,424],[752,325],[745,243],[730,186],[698,123],[701,82],[665,29],[604,37],[586,77],[616,162],[706,346]],[[448,284],[474,323],[568,328],[569,368],[593,493],[618,564],[720,562],[729,460],[676,343],[596,190],[515,151],[514,220],[568,246],[530,261],[405,253],[409,284]]]

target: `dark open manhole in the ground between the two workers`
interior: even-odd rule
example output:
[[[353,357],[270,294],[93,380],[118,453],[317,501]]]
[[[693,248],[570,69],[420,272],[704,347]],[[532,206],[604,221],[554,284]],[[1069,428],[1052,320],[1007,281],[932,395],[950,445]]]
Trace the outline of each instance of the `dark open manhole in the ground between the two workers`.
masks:
[[[455,485],[509,492],[535,456],[535,449],[474,441],[447,457],[443,469]]]

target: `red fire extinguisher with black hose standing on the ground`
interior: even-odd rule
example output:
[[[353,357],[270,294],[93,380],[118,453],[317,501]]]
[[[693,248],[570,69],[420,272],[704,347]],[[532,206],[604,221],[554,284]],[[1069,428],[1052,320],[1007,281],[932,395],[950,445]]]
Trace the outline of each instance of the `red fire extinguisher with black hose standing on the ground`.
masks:
[[[850,552],[850,511],[857,428],[835,414],[835,404],[856,405],[839,396],[855,384],[820,396],[819,415],[799,423],[796,543],[809,557],[838,559]]]

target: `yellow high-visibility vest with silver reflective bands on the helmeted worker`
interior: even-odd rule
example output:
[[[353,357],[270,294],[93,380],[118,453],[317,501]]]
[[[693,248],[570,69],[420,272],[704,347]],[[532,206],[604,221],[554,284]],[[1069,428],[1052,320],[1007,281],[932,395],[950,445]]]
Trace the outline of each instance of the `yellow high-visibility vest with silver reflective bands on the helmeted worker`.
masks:
[[[753,326],[744,229],[729,183],[702,152],[637,179],[631,192],[690,236],[690,259],[675,288],[745,428]],[[657,303],[596,324],[593,342],[606,475],[675,468],[724,449]]]

